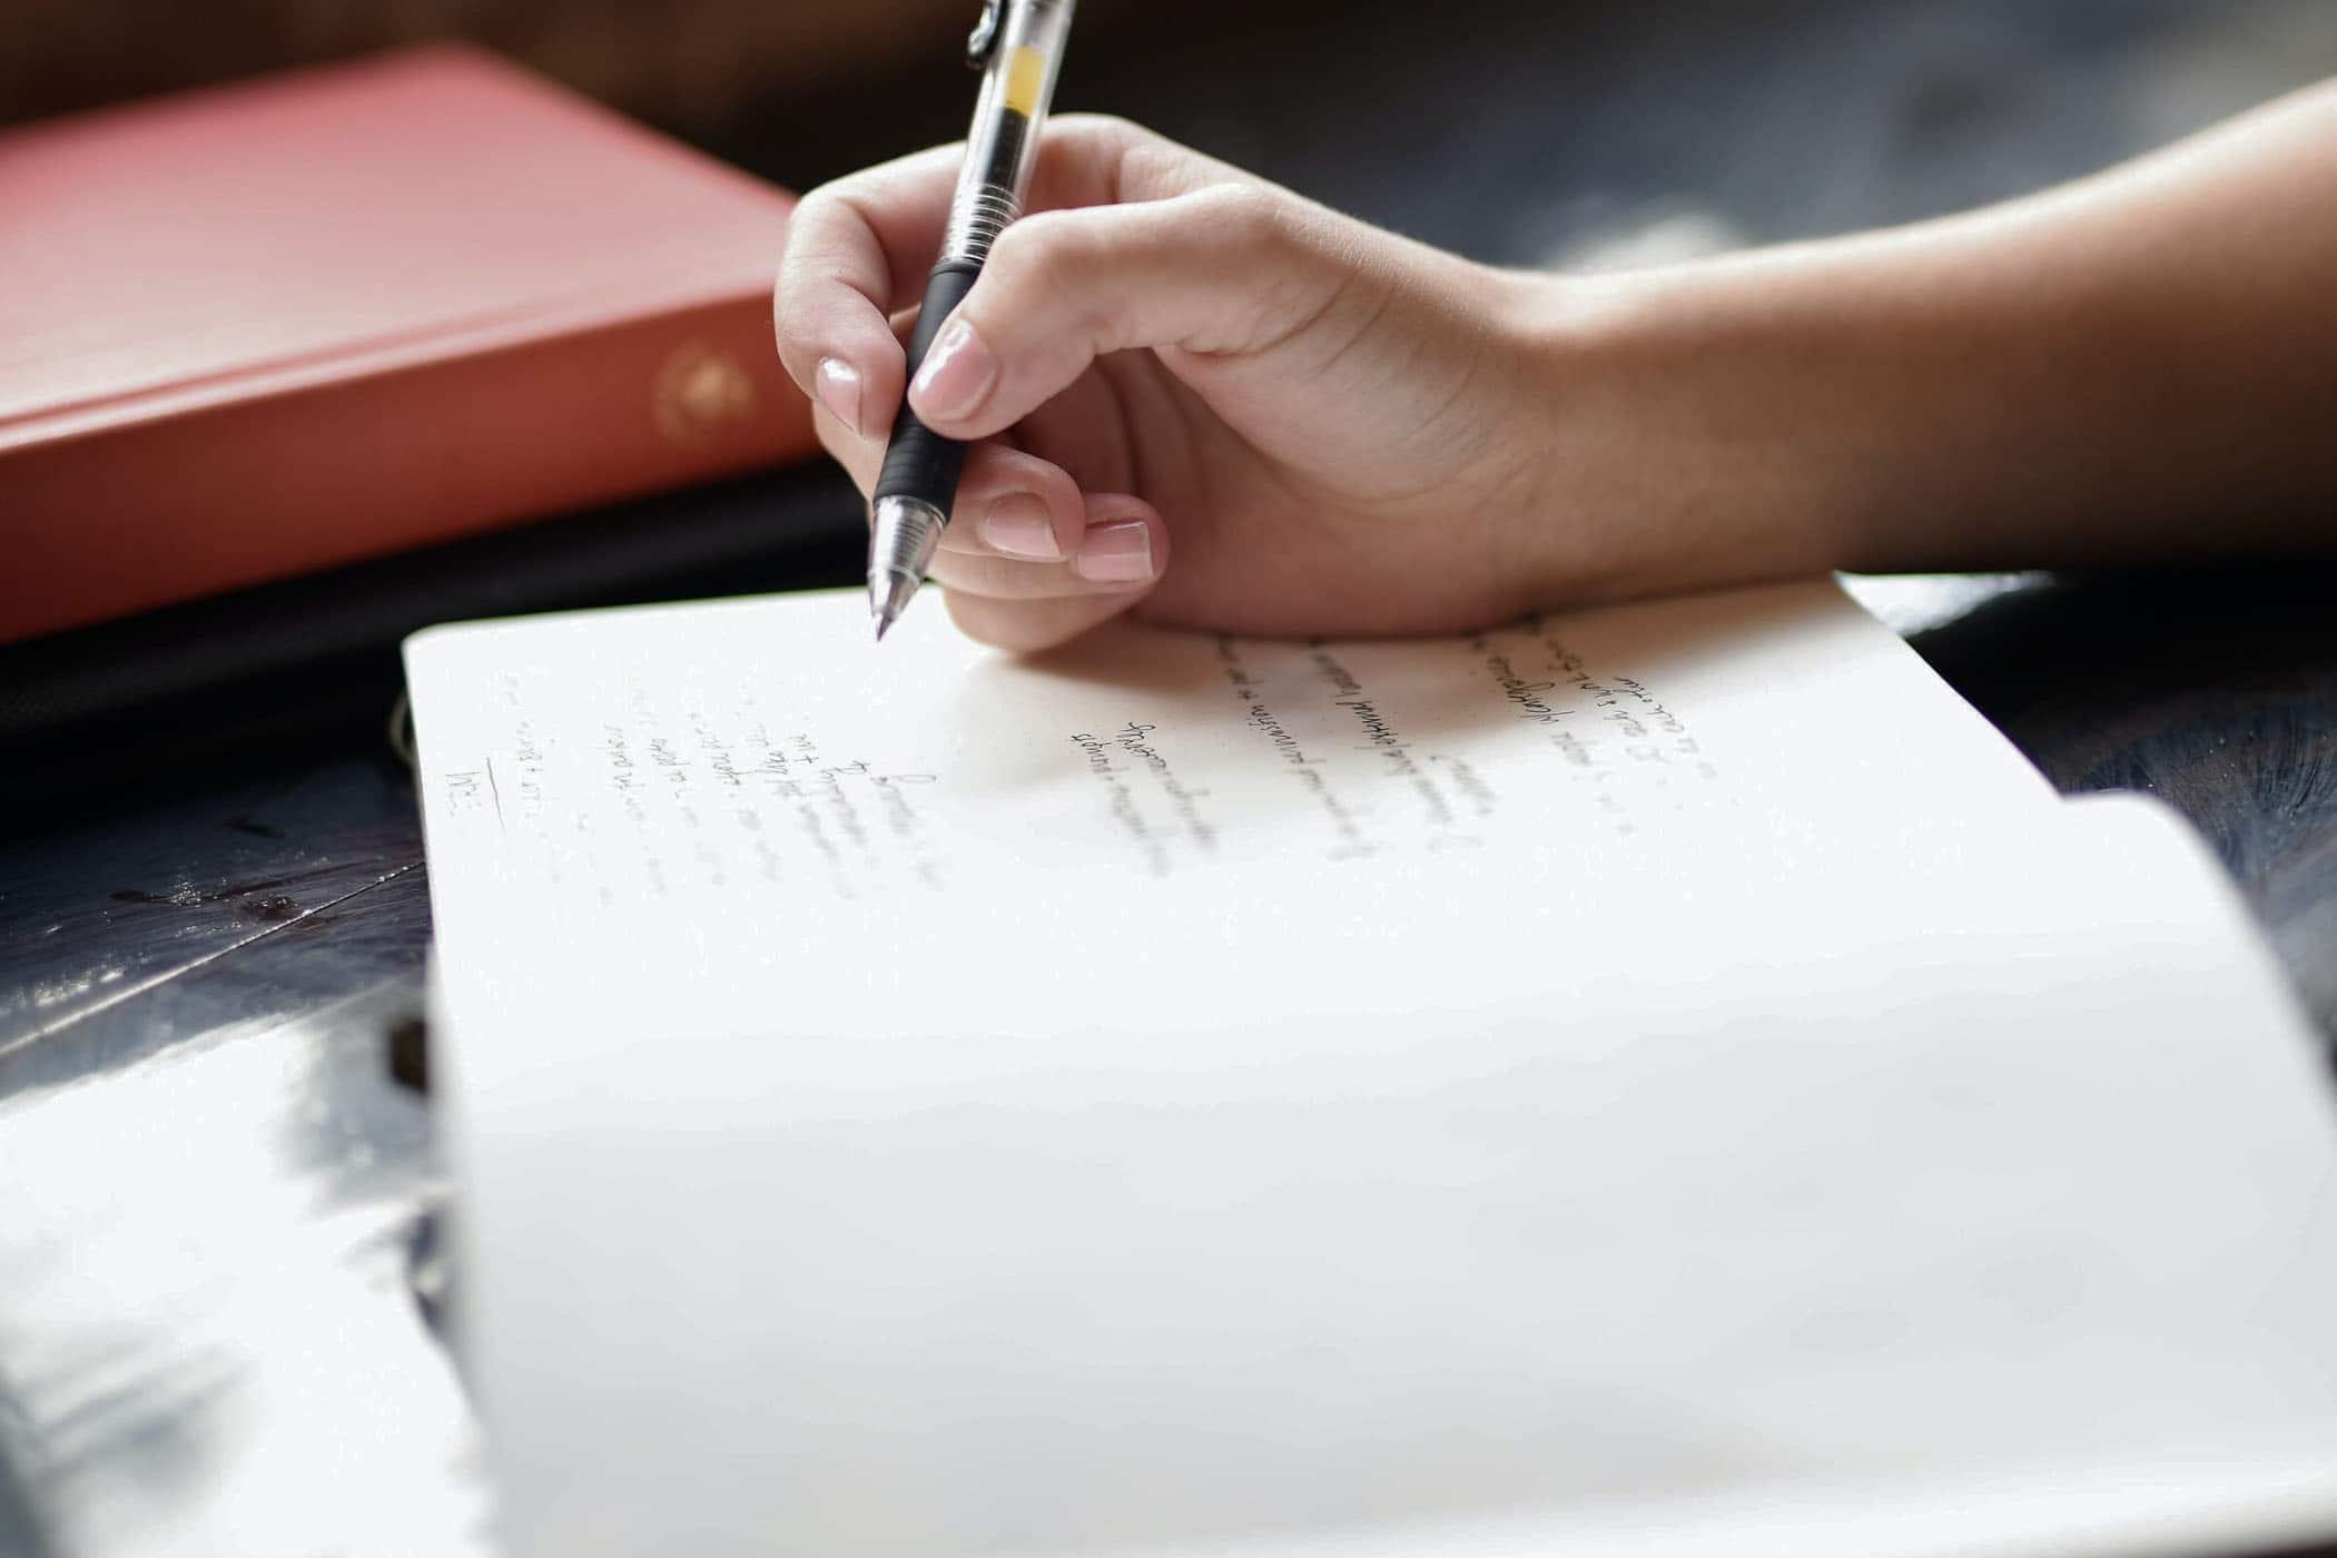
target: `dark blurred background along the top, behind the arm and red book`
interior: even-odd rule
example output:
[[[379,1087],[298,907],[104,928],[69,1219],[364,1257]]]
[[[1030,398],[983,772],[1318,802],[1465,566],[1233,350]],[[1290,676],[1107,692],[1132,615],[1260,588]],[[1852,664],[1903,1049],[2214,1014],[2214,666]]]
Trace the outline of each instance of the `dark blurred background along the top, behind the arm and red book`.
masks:
[[[12,0],[0,121],[467,37],[806,189],[961,133],[975,0]],[[2337,75],[2332,0],[1082,0],[1063,110],[1507,264],[2000,199]]]

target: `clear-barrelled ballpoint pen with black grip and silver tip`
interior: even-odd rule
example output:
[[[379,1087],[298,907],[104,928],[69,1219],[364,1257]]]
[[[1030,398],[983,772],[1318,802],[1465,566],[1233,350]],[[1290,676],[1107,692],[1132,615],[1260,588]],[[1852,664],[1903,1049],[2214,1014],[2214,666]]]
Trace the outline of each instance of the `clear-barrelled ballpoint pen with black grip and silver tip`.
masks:
[[[965,40],[965,63],[982,72],[975,128],[965,135],[965,171],[949,196],[942,257],[925,276],[925,304],[909,336],[909,378],[925,348],[982,276],[982,262],[1007,222],[1021,215],[1038,159],[1038,131],[1063,65],[1073,0],[984,0]],[[869,610],[886,635],[925,582],[958,498],[965,444],[944,439],[909,411],[907,395],[869,493]]]

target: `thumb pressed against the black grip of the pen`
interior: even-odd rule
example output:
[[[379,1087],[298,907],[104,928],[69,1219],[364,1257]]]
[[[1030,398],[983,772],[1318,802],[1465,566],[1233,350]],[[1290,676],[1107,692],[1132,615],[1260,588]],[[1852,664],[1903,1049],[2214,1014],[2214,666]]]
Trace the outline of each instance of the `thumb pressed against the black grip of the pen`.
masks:
[[[1117,350],[1264,350],[1323,318],[1348,266],[1323,213],[1269,185],[1045,210],[998,234],[909,385],[935,432],[982,439]]]

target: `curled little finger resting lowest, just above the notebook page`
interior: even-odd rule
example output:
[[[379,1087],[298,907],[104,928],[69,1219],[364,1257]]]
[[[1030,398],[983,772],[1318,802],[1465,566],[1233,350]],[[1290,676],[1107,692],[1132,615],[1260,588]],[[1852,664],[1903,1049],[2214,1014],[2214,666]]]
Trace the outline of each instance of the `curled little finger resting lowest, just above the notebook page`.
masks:
[[[1168,533],[1152,505],[1122,493],[1089,498],[1089,526],[1063,563],[996,556],[935,558],[949,614],[970,635],[1031,654],[1087,633],[1143,600],[1168,561]]]

